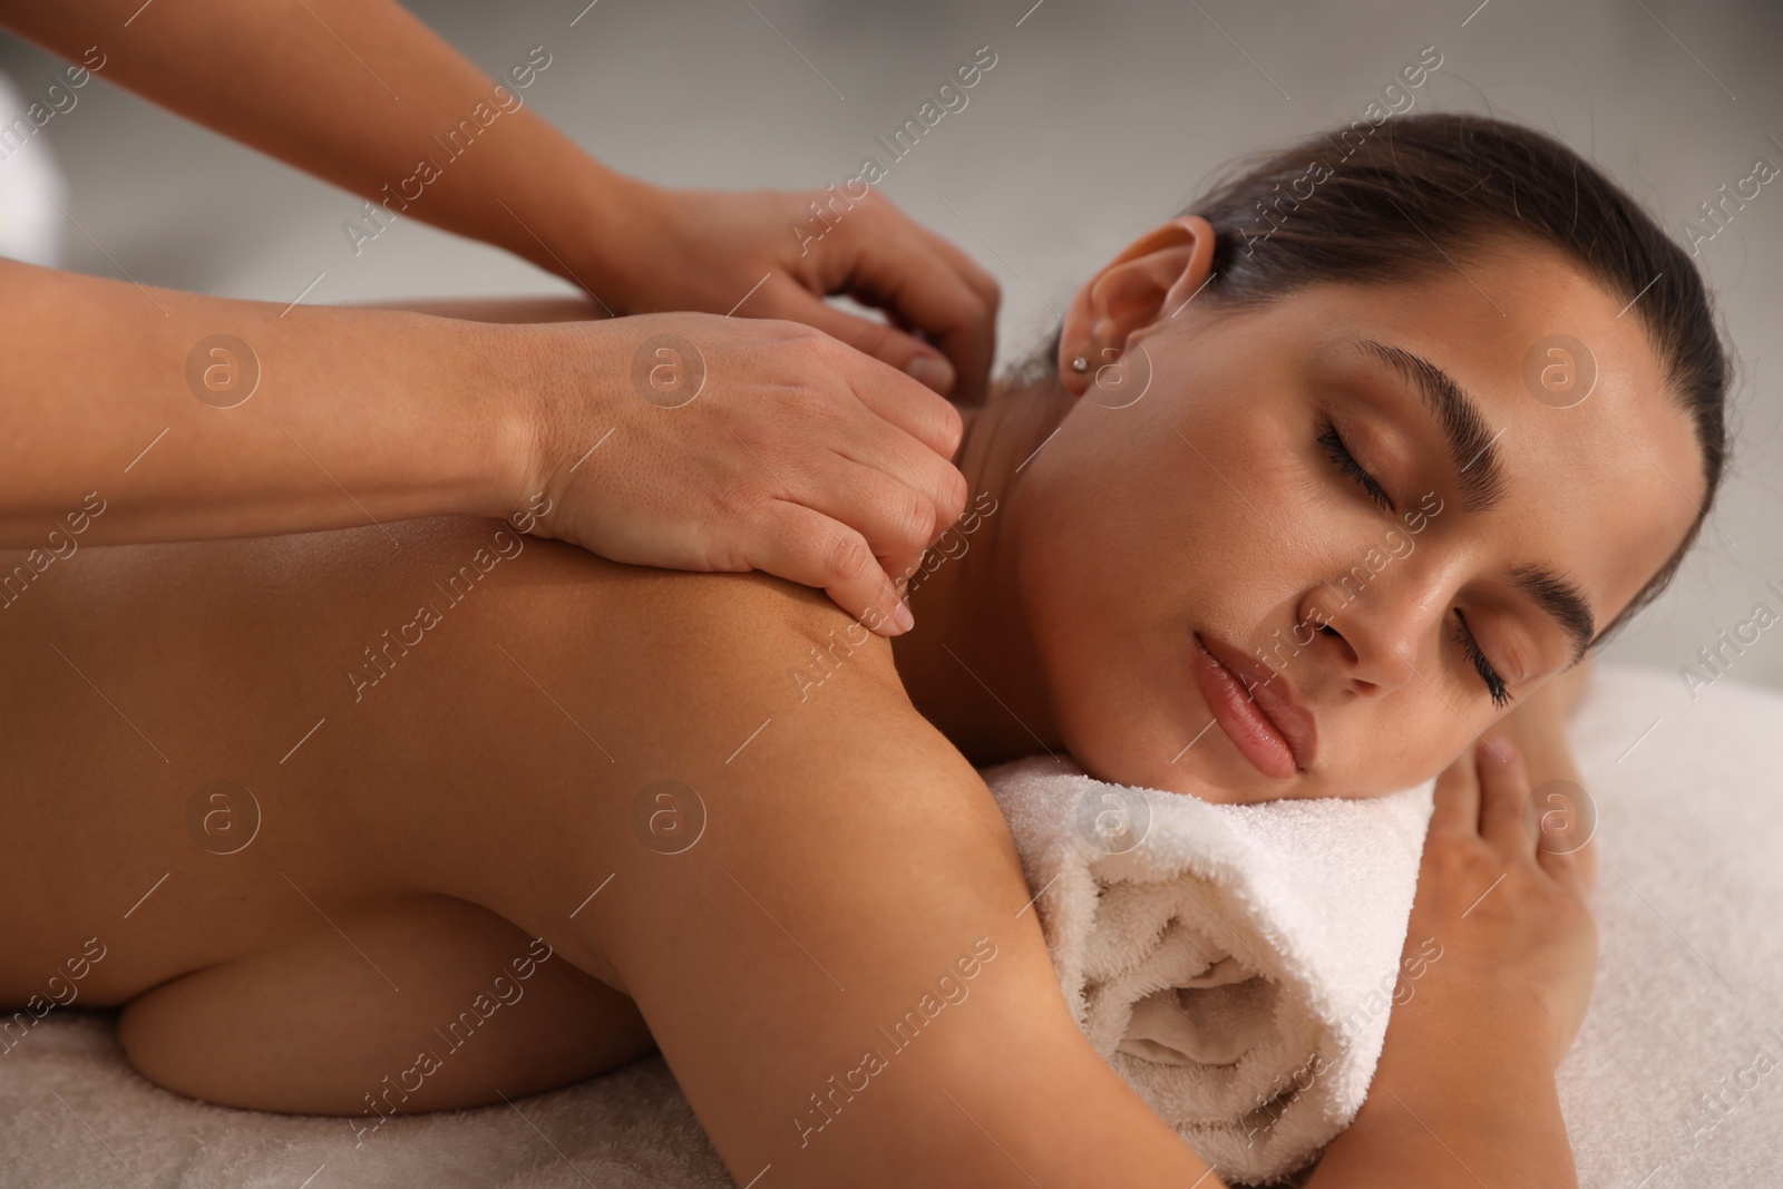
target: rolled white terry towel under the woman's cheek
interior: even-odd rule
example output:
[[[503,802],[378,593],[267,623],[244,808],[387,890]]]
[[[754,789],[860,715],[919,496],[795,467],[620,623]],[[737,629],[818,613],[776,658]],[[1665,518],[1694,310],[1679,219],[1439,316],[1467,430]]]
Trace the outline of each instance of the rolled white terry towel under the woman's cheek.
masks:
[[[984,779],[1091,1046],[1221,1178],[1309,1164],[1362,1105],[1394,996],[1441,959],[1405,947],[1435,781],[1221,806],[1045,756]]]

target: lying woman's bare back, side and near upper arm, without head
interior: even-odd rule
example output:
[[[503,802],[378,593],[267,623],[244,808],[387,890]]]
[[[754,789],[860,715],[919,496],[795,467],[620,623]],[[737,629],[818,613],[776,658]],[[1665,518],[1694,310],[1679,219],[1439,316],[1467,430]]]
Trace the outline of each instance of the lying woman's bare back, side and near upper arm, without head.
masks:
[[[7,635],[9,670],[37,674],[0,702],[18,726],[5,761],[34,795],[9,806],[0,870],[9,902],[39,911],[18,918],[0,1000],[43,993],[45,972],[96,936],[105,957],[78,1004],[125,1005],[139,1071],[210,1102],[342,1114],[364,1143],[387,1112],[499,1102],[661,1045],[740,1182],[774,1162],[793,1184],[847,1184],[865,1160],[900,1168],[897,1144],[922,1134],[957,1184],[1002,1184],[1004,1157],[940,1089],[1023,1164],[1084,1169],[1061,1184],[1116,1175],[1097,1153],[1114,1137],[1123,1184],[1200,1175],[1064,1014],[1034,916],[1016,916],[1027,890],[1006,827],[902,697],[890,649],[858,647],[799,702],[786,665],[847,624],[813,592],[535,542],[355,704],[339,658],[360,636],[344,627],[439,599],[419,576],[451,572],[492,524],[399,531],[401,569],[376,529],[94,549]],[[230,583],[273,565],[282,590]],[[578,626],[622,615],[633,631]],[[280,763],[312,713],[326,722]],[[52,736],[80,749],[78,775]],[[226,856],[187,827],[219,775],[260,809],[253,841]],[[631,824],[661,777],[706,806],[685,854],[649,850]],[[248,829],[244,804],[230,809]],[[207,836],[241,840],[221,824]],[[551,957],[521,982],[531,938]],[[875,1029],[977,938],[995,959],[954,1027],[893,1055],[904,1078],[874,1078],[863,1111],[801,1146],[806,1096],[883,1046]],[[524,998],[474,1043],[442,1036],[476,996],[499,996],[497,975]],[[439,1059],[426,1077],[421,1052]],[[981,1061],[998,1073],[975,1077]],[[998,1105],[1022,1082],[1059,1093]]]

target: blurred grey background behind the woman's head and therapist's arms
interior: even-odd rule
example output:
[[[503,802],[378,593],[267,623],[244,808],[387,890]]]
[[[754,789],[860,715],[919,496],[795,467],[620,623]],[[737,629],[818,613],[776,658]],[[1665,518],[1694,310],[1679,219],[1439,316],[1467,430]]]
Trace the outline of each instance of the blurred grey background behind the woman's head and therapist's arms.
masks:
[[[177,2],[177,0],[166,0]],[[1073,287],[1168,217],[1230,157],[1360,118],[1434,45],[1430,105],[1553,130],[1683,242],[1697,205],[1783,168],[1778,0],[412,0],[490,75],[553,55],[526,93],[610,166],[656,184],[745,189],[843,182],[981,45],[995,68],[879,187],[1004,285],[1000,360],[1031,351]],[[574,25],[572,25],[574,21]],[[228,70],[226,62],[207,66]],[[23,96],[59,64],[5,41]],[[25,100],[20,100],[23,103]],[[18,112],[5,112],[7,118]],[[342,112],[349,119],[351,112]],[[360,200],[185,123],[100,75],[0,169],[48,155],[68,182],[66,267],[289,303],[567,292],[492,248],[405,219],[355,257]],[[21,162],[25,162],[21,166]],[[0,176],[0,185],[7,178]],[[1701,246],[1740,355],[1738,453],[1669,597],[1612,647],[1696,665],[1767,603],[1783,615],[1783,180]],[[1730,679],[1783,690],[1783,624]],[[1705,699],[1710,695],[1705,695]],[[1680,708],[1687,706],[1680,677]]]

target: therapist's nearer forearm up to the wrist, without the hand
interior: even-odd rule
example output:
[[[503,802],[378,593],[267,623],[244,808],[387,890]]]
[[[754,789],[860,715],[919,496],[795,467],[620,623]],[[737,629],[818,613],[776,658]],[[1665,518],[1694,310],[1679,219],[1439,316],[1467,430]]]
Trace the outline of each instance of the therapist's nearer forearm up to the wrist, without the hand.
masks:
[[[515,510],[531,449],[515,328],[282,314],[7,260],[0,308],[0,547]],[[201,346],[219,333],[246,349]]]

